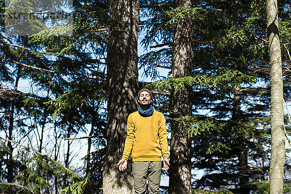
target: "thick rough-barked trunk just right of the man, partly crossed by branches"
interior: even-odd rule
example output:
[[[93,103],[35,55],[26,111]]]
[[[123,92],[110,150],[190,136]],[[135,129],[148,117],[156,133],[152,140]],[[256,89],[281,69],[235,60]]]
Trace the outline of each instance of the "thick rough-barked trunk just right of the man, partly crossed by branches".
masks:
[[[191,0],[174,0],[174,8],[192,7]],[[173,78],[189,76],[192,69],[192,25],[189,19],[179,21],[173,34]],[[192,87],[185,90],[171,91],[171,108],[173,118],[185,118],[192,115]],[[171,124],[171,149],[169,194],[191,193],[191,137],[186,135],[187,128],[173,122]]]

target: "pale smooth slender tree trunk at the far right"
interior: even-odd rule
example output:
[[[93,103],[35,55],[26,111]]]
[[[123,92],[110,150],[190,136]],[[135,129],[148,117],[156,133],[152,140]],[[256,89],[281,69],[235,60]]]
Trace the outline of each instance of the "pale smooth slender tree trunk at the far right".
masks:
[[[267,30],[271,65],[271,163],[270,194],[283,194],[285,134],[283,120],[282,61],[277,0],[267,0]]]

